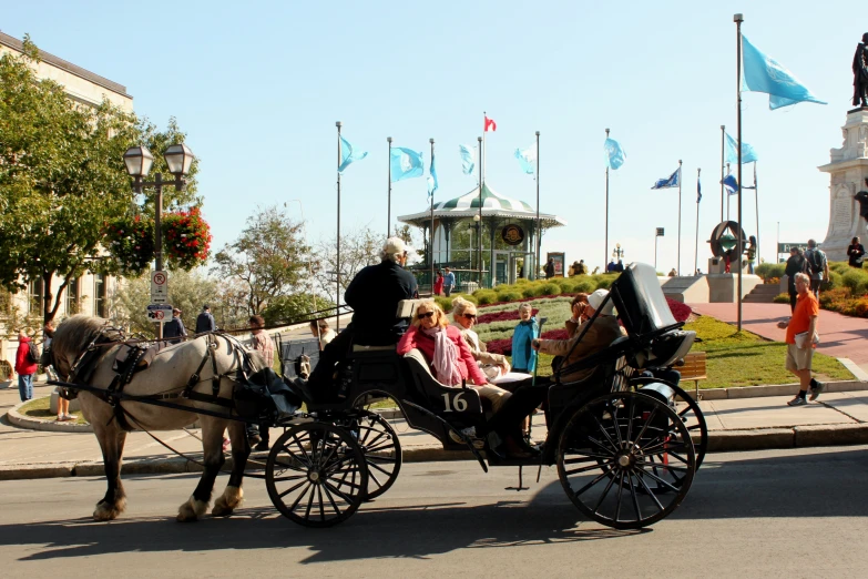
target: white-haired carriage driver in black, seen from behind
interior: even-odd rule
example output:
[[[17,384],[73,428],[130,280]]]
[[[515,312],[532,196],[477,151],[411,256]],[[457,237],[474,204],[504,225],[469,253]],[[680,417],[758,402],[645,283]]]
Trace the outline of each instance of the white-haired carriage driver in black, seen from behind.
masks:
[[[349,283],[344,302],[353,308],[353,322],[320,353],[308,385],[328,388],[335,366],[344,360],[353,344],[388,346],[398,343],[407,321],[395,313],[401,299],[418,295],[416,277],[404,270],[407,246],[400,237],[389,237],[382,246],[381,262],[364,267]]]

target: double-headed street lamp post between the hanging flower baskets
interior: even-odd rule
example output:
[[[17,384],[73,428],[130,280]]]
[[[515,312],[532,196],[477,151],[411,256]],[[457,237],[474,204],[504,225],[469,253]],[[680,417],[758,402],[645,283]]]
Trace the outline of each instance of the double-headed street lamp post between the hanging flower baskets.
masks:
[[[163,231],[161,220],[163,219],[163,185],[174,185],[175,191],[183,191],[187,184],[186,176],[190,173],[190,166],[193,164],[193,151],[184,143],[170,145],[163,154],[169,166],[169,172],[175,177],[173,181],[163,181],[162,173],[155,173],[153,181],[144,181],[151,166],[154,164],[154,155],[145,146],[131,146],[123,154],[123,161],[126,165],[126,172],[133,181],[133,191],[142,193],[146,187],[153,187],[156,192],[154,200],[154,256],[156,257],[156,270],[163,271]],[[163,338],[163,324],[156,329],[157,339]]]

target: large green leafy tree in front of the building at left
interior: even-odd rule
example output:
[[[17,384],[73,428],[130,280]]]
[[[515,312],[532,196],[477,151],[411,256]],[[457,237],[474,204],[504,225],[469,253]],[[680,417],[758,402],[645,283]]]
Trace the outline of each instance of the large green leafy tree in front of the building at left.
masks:
[[[153,193],[135,204],[124,151],[143,143],[154,171],[166,172],[162,153],[184,135],[174,120],[161,132],[108,101],[72,101],[57,82],[37,78],[38,61],[27,37],[23,54],[0,58],[0,285],[14,292],[41,278],[48,322],[71,280],[112,270],[101,248],[104,224],[131,209],[153,213]],[[200,201],[194,175],[184,192],[166,189],[170,206]]]

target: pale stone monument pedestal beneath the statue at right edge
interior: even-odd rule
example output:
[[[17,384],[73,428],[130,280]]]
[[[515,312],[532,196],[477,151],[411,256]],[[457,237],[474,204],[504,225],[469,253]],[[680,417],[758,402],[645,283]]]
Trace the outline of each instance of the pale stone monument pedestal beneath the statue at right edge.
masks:
[[[847,246],[854,237],[868,240],[865,217],[859,215],[856,195],[866,190],[868,177],[868,106],[847,113],[843,128],[844,143],[830,151],[830,163],[819,166],[829,174],[829,228],[823,251],[829,260],[847,261]]]

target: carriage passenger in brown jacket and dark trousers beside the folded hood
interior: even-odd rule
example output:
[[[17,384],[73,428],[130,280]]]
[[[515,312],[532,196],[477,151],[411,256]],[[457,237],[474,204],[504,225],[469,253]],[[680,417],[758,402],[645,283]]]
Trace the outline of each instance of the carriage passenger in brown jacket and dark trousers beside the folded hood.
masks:
[[[576,364],[589,356],[607,348],[612,342],[621,337],[621,326],[617,324],[617,317],[614,313],[612,302],[603,305],[603,301],[609,295],[606,290],[598,290],[588,296],[588,305],[584,314],[589,321],[582,323],[575,331],[574,337],[570,339],[534,339],[531,347],[543,354],[553,354],[563,356],[562,368]],[[590,318],[595,312],[600,311],[596,319]],[[590,324],[590,326],[588,325]],[[584,332],[586,328],[586,332]],[[584,335],[582,333],[584,332]],[[561,375],[561,383],[579,382],[591,376],[596,369],[595,366],[570,372]],[[477,436],[484,436],[490,431],[497,431],[501,438],[507,441],[507,450],[513,458],[530,458],[534,449],[522,444],[521,423],[525,416],[529,416],[534,408],[540,406],[547,398],[549,386],[553,379],[549,377],[529,378],[520,383],[513,390],[512,396],[503,404],[500,412],[494,414],[483,428],[477,429]],[[515,448],[518,447],[518,448]]]

